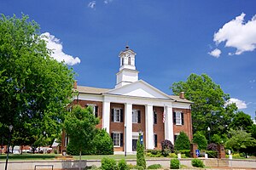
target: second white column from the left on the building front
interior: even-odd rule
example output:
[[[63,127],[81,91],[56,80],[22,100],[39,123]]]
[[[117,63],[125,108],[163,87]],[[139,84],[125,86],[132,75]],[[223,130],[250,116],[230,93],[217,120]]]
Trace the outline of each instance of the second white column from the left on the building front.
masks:
[[[132,105],[125,104],[125,149],[126,153],[132,152]]]

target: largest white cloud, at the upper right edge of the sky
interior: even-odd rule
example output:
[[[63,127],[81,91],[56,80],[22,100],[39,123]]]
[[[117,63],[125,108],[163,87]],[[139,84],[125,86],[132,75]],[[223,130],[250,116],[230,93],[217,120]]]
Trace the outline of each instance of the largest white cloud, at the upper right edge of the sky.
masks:
[[[245,15],[242,13],[235,20],[224,24],[214,34],[213,41],[217,45],[220,42],[225,42],[225,47],[236,48],[236,55],[253,51],[256,48],[256,14],[247,23],[244,21]]]

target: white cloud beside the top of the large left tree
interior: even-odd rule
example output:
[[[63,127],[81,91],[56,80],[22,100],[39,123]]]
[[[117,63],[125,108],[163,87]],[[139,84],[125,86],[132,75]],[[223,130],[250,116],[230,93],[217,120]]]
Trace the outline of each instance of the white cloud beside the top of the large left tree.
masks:
[[[61,41],[53,35],[50,35],[49,32],[44,32],[41,34],[41,37],[46,41],[46,47],[51,49],[53,53],[51,57],[56,59],[57,61],[64,62],[67,65],[76,65],[79,64],[81,61],[78,57],[73,57],[71,55],[65,54],[62,49]]]

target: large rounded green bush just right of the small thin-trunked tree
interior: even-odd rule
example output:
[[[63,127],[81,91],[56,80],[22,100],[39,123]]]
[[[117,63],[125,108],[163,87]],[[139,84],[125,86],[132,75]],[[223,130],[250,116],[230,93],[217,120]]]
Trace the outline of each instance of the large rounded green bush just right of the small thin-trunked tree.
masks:
[[[105,129],[98,129],[93,140],[96,155],[113,155],[113,141]]]

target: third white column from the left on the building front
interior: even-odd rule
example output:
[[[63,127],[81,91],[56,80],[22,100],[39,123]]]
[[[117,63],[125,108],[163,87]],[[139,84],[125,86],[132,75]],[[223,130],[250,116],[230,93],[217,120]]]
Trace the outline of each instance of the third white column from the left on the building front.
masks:
[[[154,115],[153,105],[145,106],[146,115],[146,149],[154,149]]]

